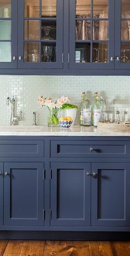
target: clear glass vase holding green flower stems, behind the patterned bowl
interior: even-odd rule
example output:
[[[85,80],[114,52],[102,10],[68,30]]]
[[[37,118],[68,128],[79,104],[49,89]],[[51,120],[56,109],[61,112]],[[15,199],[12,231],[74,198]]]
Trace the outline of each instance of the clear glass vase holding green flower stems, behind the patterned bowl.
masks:
[[[56,109],[48,111],[48,126],[59,126],[58,111]]]

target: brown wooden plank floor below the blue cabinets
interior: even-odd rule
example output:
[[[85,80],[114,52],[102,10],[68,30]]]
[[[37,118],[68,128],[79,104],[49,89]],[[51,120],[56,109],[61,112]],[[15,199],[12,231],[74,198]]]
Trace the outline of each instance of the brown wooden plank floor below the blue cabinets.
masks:
[[[130,242],[0,241],[0,256],[130,256]]]

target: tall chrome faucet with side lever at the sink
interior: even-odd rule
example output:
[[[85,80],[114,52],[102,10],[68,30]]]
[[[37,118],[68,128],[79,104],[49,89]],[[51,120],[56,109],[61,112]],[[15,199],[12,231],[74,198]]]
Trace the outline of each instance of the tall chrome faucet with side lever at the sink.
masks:
[[[13,96],[12,99],[10,97],[7,98],[7,105],[8,106],[9,106],[9,102],[12,105],[11,117],[10,117],[10,126],[17,126],[18,122],[23,119],[22,112],[21,111],[19,112],[19,117],[15,117],[15,98],[14,98],[14,96]]]

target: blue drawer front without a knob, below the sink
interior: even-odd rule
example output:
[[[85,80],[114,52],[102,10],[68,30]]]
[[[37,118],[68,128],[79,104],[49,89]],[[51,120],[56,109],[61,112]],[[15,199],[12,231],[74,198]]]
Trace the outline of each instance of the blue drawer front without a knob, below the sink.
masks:
[[[0,140],[0,157],[43,157],[44,141],[40,140]]]

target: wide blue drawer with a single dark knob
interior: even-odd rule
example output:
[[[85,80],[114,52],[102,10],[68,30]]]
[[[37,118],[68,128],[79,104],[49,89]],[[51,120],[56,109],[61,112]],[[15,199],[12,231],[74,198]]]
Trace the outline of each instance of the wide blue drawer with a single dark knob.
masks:
[[[118,141],[51,141],[51,157],[53,158],[128,158],[130,142]]]

